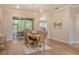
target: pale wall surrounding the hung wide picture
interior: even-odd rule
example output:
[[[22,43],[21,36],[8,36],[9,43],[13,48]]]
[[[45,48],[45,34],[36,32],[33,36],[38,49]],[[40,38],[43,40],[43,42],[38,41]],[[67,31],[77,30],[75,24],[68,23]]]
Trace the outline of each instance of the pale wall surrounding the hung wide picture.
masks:
[[[62,28],[56,29],[53,26],[55,20],[63,20]],[[50,14],[50,37],[52,39],[69,43],[69,8],[63,8]]]

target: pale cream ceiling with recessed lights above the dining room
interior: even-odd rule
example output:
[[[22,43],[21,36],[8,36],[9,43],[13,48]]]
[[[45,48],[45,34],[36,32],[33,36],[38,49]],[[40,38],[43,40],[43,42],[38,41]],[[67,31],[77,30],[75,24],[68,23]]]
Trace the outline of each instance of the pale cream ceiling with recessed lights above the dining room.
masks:
[[[50,12],[66,5],[68,4],[19,4],[20,8],[16,8],[17,4],[0,4],[0,7],[8,9],[19,9],[30,12]],[[79,7],[78,4],[72,6]]]

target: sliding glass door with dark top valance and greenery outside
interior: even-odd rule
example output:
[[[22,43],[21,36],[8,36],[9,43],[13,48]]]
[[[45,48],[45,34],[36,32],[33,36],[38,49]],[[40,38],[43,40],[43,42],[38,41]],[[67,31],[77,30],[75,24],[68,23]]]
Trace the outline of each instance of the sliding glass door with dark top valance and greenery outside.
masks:
[[[23,38],[25,29],[33,30],[33,19],[30,18],[13,18],[13,38]]]

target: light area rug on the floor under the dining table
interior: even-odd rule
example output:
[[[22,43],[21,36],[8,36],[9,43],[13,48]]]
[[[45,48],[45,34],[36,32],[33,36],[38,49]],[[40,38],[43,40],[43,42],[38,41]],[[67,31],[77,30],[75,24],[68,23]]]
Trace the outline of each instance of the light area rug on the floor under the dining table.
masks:
[[[22,47],[25,54],[27,55],[51,49],[51,47],[49,47],[48,45],[42,46],[41,48],[35,48],[35,49],[31,47],[26,47],[24,44],[22,45]]]

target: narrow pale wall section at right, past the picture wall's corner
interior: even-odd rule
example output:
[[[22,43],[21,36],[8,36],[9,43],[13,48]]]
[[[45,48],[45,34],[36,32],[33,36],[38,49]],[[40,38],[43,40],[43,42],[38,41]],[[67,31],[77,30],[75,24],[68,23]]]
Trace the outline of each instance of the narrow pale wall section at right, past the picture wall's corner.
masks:
[[[76,43],[76,11],[73,7],[69,8],[69,44]]]

